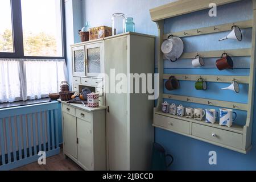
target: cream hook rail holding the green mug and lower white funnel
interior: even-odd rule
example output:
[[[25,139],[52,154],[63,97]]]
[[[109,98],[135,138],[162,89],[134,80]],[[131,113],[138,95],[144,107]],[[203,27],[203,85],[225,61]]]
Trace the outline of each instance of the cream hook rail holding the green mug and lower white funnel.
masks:
[[[235,78],[240,84],[249,84],[249,76],[163,74],[163,79],[167,80],[170,76],[175,76],[177,80],[197,81],[201,77],[204,81],[225,83]]]

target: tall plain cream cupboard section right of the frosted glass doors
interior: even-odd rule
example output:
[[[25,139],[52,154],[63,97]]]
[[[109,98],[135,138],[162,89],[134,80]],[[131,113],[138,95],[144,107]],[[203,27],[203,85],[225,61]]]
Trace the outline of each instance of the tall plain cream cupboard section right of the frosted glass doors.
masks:
[[[130,73],[154,73],[153,36],[123,34],[104,40],[105,73],[127,76],[126,93],[110,93],[113,83],[105,83],[107,167],[109,170],[150,169],[154,101],[148,94],[130,93]],[[115,85],[117,85],[115,82]],[[141,84],[140,84],[141,85]],[[117,86],[116,86],[117,87]]]

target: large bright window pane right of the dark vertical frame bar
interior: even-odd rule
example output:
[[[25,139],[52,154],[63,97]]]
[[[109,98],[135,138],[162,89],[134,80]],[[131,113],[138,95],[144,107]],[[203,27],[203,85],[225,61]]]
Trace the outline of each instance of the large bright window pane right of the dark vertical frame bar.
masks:
[[[21,0],[24,56],[63,56],[60,0]]]

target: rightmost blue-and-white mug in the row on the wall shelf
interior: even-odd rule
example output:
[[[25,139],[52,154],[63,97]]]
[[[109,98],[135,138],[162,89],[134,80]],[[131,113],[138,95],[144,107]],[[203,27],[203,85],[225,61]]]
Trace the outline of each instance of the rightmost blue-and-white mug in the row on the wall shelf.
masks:
[[[235,114],[235,117],[233,119],[233,113]],[[220,125],[224,126],[232,126],[232,123],[236,120],[237,113],[234,112],[232,109],[225,109],[220,108]]]

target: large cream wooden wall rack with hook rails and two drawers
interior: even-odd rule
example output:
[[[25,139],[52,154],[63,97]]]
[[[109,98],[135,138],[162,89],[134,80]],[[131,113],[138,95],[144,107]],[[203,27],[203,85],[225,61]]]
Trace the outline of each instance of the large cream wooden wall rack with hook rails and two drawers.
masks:
[[[216,0],[217,6],[228,3],[237,2],[240,0]],[[193,30],[184,30],[180,32],[170,32],[164,34],[164,19],[172,18],[179,15],[184,15],[204,9],[208,9],[210,0],[180,0],[167,5],[156,7],[150,10],[151,20],[158,26],[158,42],[157,59],[158,59],[158,73],[159,73],[159,99],[158,104],[154,108],[154,123],[153,126],[161,129],[169,130],[174,133],[185,135],[194,139],[203,140],[204,142],[212,143],[217,146],[225,147],[230,150],[238,151],[246,154],[251,149],[251,130],[253,125],[253,102],[254,102],[254,77],[255,77],[255,42],[256,42],[256,0],[253,1],[253,19],[241,22],[233,22],[226,24],[216,24],[211,27],[203,27]],[[193,59],[197,54],[201,57],[220,57],[222,53],[226,52],[230,56],[250,56],[250,75],[249,76],[221,76],[221,75],[182,75],[182,74],[164,74],[164,59],[163,53],[160,49],[164,39],[169,35],[185,37],[197,36],[203,34],[213,34],[216,32],[229,31],[230,28],[236,24],[240,28],[252,28],[251,48],[245,49],[230,49],[230,50],[214,50],[207,52],[184,52],[180,59]],[[210,82],[231,82],[236,79],[241,84],[248,84],[248,101],[247,104],[238,102],[218,101],[208,98],[178,96],[174,94],[163,93],[164,80],[170,76],[175,76],[178,80],[197,81],[202,77],[205,81]],[[214,124],[205,123],[204,121],[196,121],[195,119],[178,117],[163,113],[161,106],[163,99],[171,99],[185,102],[193,102],[196,104],[211,105],[218,107],[227,107],[230,109],[247,111],[245,125],[233,125],[232,127],[220,126],[218,122]],[[212,135],[214,134],[214,136]],[[217,137],[216,137],[217,136]]]

